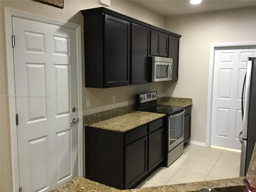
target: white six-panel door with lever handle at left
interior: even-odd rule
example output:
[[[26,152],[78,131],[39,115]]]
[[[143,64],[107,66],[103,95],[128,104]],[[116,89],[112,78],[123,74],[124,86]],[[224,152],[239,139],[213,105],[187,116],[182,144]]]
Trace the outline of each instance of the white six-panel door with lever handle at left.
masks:
[[[12,30],[20,187],[49,191],[78,176],[76,30],[17,17]]]

